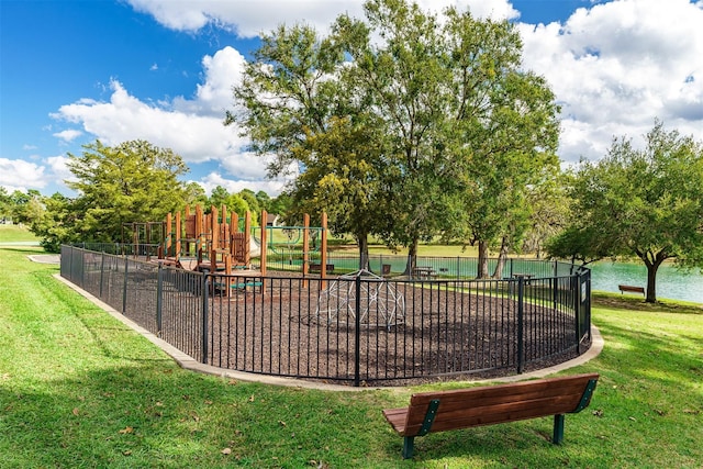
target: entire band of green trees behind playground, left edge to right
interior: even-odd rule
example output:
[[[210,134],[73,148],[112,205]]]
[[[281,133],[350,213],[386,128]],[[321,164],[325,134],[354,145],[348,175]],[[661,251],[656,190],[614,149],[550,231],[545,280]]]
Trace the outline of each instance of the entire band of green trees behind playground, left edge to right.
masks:
[[[513,25],[404,0],[371,0],[365,12],[338,16],[326,36],[299,24],[264,35],[234,88],[225,125],[272,156],[271,176],[295,175],[276,199],[222,187],[207,197],[180,180],[178,155],[136,141],[69,155],[74,199],[0,191],[0,203],[33,217],[54,249],[119,241],[123,222],[200,203],[266,209],[288,224],[326,212],[360,259],[370,237],[405,248],[410,261],[421,242],[478,245],[479,278],[502,276],[501,261],[488,271],[489,250],[581,264],[636,257],[648,268],[647,301],[662,261],[703,266],[703,144],[657,121],[645,149],[616,137],[600,161],[562,171],[558,105],[522,68]]]

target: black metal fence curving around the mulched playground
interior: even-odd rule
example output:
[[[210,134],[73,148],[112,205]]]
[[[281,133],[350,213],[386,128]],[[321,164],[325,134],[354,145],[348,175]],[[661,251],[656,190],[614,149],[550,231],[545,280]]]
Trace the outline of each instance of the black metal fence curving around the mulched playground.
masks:
[[[261,278],[63,246],[60,270],[197,360],[254,373],[377,386],[522,372],[580,354],[590,338],[588,269],[563,275],[570,265],[515,259],[510,277],[468,280],[449,278],[437,259],[446,258],[416,259],[435,272],[420,278],[371,271]],[[393,266],[386,260],[376,273]],[[457,264],[461,271],[470,261]]]

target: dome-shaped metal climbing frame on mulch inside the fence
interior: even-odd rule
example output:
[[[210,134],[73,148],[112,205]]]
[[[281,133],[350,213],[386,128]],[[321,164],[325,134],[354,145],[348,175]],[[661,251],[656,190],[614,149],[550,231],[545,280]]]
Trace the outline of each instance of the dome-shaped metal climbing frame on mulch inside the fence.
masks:
[[[359,283],[357,299],[355,280],[359,277],[367,281]],[[366,269],[341,276],[330,283],[330,288],[321,290],[315,317],[321,321],[326,315],[327,324],[355,322],[357,308],[359,324],[383,326],[390,332],[391,326],[405,322],[405,298],[398,292],[395,283]]]

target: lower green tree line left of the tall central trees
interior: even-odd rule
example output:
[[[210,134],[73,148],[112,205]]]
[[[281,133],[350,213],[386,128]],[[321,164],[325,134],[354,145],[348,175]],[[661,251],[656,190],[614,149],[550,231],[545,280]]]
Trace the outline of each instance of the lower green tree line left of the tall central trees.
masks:
[[[217,186],[208,197],[202,186],[180,179],[188,168],[179,155],[144,141],[114,147],[97,141],[68,157],[75,179],[66,185],[76,197],[43,197],[35,190],[10,194],[0,188],[0,217],[26,224],[49,252],[64,243],[121,242],[124,223],[160,222],[186,205],[208,213],[225,204],[238,213],[250,211],[255,221],[261,210],[284,213],[288,206],[286,194],[270,198],[248,189],[230,193]]]

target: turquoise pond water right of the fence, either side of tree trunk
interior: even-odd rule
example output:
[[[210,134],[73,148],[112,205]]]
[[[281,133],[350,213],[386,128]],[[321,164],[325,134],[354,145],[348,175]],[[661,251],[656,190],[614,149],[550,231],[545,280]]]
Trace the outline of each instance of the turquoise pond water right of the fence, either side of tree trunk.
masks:
[[[601,261],[589,267],[593,290],[620,293],[618,284],[647,287],[644,264]],[[698,269],[685,272],[665,264],[657,271],[657,298],[703,303],[703,272]]]

